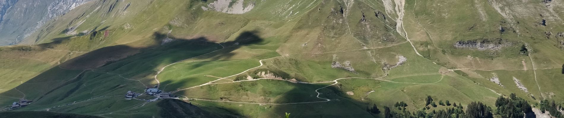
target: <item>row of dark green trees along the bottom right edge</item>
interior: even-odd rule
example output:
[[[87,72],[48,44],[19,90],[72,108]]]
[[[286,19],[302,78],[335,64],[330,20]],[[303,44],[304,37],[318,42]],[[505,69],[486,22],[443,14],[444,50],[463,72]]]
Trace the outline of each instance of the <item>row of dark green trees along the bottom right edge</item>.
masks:
[[[451,106],[450,101],[439,101],[439,105]],[[471,102],[466,106],[465,110],[462,104],[452,103],[452,107],[445,108],[442,110],[432,110],[429,111],[430,107],[437,107],[436,103],[433,102],[431,96],[427,96],[425,101],[425,107],[411,112],[406,110],[406,102],[396,102],[394,107],[398,110],[392,110],[390,107],[384,106],[384,118],[522,118],[527,113],[532,112],[531,104],[529,104],[525,99],[515,96],[511,93],[508,97],[500,96],[495,102],[496,110],[493,110],[490,106],[482,102]],[[540,103],[541,112],[548,111],[550,115],[557,118],[564,118],[564,116],[558,110],[564,110],[564,107],[557,105],[554,101],[549,102],[548,100],[543,100]],[[374,104],[371,108],[367,108],[368,112],[372,114],[380,114],[380,110]]]

